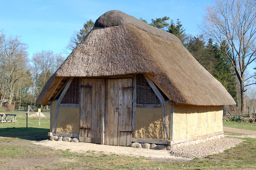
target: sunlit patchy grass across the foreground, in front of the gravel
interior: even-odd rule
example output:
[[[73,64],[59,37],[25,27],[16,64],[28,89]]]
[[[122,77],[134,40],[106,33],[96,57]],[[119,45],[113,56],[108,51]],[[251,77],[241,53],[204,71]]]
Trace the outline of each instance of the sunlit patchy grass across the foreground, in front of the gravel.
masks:
[[[223,153],[193,160],[150,159],[95,152],[54,150],[29,140],[0,137],[0,162],[9,168],[40,169],[227,169],[256,167],[256,139],[245,138]],[[31,160],[31,161],[30,161]],[[36,161],[32,161],[36,160]],[[17,167],[15,167],[17,164]]]

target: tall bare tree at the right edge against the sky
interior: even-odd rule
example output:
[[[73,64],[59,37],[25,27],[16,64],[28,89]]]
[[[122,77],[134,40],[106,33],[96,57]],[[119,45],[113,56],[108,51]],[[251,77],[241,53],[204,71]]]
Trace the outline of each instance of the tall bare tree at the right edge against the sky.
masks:
[[[255,0],[215,0],[206,8],[203,25],[200,27],[208,38],[227,48],[220,49],[235,69],[240,83],[241,112],[246,113],[246,68],[256,59],[256,1]],[[225,49],[230,49],[226,51]],[[231,52],[231,55],[229,53]]]

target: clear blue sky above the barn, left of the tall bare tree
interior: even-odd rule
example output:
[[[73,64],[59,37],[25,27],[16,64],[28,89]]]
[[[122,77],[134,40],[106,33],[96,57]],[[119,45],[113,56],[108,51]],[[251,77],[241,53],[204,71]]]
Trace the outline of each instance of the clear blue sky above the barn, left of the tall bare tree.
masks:
[[[31,57],[41,50],[63,52],[75,30],[109,10],[120,10],[148,22],[156,17],[167,16],[174,21],[179,18],[186,33],[197,35],[205,8],[212,3],[212,0],[2,0],[0,30],[21,36]]]

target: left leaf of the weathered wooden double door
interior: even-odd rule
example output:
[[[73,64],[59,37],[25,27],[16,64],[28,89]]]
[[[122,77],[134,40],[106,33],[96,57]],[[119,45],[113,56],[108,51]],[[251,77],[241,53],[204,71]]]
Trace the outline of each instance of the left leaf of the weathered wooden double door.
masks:
[[[104,104],[104,79],[82,79],[79,133],[81,142],[101,143],[103,135],[101,116],[104,116]]]

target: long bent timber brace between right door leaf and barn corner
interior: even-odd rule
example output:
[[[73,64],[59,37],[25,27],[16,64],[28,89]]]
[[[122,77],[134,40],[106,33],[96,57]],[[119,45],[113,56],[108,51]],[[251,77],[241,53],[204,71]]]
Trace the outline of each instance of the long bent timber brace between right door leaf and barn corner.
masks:
[[[149,83],[149,86],[153,89],[157,97],[159,98],[159,101],[161,103],[162,108],[162,116],[163,116],[163,123],[164,123],[164,139],[168,139],[168,130],[167,130],[167,109],[166,109],[166,103],[164,96],[160,93],[160,91],[155,86],[154,82],[147,76],[147,74],[143,74],[147,82]]]

